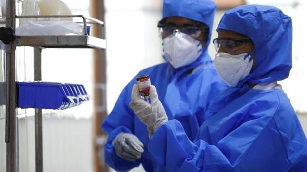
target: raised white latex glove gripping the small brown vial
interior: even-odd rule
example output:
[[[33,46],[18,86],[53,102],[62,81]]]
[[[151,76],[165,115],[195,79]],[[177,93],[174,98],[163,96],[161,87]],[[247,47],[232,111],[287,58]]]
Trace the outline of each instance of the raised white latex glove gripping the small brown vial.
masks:
[[[138,87],[134,84],[131,93],[130,107],[140,121],[147,126],[149,138],[151,138],[153,132],[164,122],[167,122],[168,119],[164,107],[158,98],[157,90],[153,85],[150,86],[149,96],[151,100],[150,104],[140,97]]]

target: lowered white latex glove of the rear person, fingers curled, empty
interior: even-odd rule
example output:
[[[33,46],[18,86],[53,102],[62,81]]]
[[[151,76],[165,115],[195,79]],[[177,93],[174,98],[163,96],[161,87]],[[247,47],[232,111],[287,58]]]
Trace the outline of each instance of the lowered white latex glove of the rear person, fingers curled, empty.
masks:
[[[112,141],[116,155],[128,161],[136,161],[144,152],[143,143],[133,134],[119,133]]]

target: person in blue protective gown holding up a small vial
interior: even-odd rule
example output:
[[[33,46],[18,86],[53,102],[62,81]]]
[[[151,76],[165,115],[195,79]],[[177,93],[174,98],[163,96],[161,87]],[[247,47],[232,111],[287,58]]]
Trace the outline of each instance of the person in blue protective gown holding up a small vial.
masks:
[[[133,87],[130,106],[152,127],[157,171],[307,172],[306,136],[277,84],[292,67],[291,18],[272,6],[243,5],[227,11],[217,31],[216,69],[231,87],[210,101],[194,141],[168,119],[155,86],[151,104]]]

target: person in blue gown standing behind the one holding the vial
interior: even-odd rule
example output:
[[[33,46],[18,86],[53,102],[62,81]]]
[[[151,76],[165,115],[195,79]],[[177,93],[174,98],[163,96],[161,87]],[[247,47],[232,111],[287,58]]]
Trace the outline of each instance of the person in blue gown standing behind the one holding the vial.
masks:
[[[229,87],[208,55],[215,9],[211,0],[164,0],[158,27],[167,62],[140,71],[103,122],[102,128],[109,135],[104,156],[110,167],[128,171],[141,163],[147,172],[156,169],[147,149],[153,131],[129,107],[137,76],[150,76],[168,118],[181,122],[189,139],[196,137],[209,100]]]

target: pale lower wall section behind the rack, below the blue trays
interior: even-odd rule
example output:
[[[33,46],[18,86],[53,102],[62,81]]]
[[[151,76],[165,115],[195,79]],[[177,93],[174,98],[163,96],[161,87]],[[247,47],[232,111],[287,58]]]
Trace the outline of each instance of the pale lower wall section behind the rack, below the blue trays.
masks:
[[[68,117],[67,117],[68,115]],[[91,172],[92,120],[72,118],[67,112],[44,113],[44,172]],[[35,172],[34,115],[18,116],[19,171]]]

